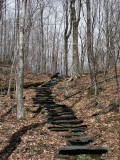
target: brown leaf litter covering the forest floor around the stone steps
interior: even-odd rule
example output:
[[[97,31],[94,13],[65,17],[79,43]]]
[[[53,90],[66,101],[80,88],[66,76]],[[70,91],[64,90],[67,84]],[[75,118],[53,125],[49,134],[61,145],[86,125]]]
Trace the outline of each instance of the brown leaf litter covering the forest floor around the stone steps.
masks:
[[[1,70],[2,71],[2,70]],[[8,84],[9,69],[1,72],[1,84]],[[120,73],[120,70],[119,70]],[[3,76],[3,74],[6,74]],[[114,70],[107,73],[107,78],[113,77]],[[103,74],[99,74],[98,81],[103,80]],[[2,81],[3,80],[3,81]],[[39,75],[33,71],[25,71],[25,82],[50,80],[50,76]],[[119,78],[120,82],[120,78]],[[39,86],[40,87],[40,86]],[[118,100],[116,92],[116,79],[113,78],[106,83],[100,83],[102,91],[97,95],[98,104],[95,104],[94,95],[88,95],[90,87],[89,74],[84,74],[79,79],[69,82],[63,80],[52,89],[54,101],[58,104],[65,104],[75,111],[78,119],[84,121],[88,128],[85,132],[88,136],[94,137],[92,146],[105,147],[108,153],[102,156],[103,160],[120,160],[120,114],[115,109],[107,114],[92,116],[94,113],[104,110],[109,104]],[[35,97],[35,88],[24,89],[24,110],[25,119],[16,118],[16,101],[7,95],[1,95],[0,114],[0,150],[7,152],[8,160],[58,160],[55,154],[60,147],[66,145],[63,132],[52,132],[48,129],[50,124],[46,122],[46,113],[35,116],[33,111],[32,98]],[[34,108],[35,109],[35,108]],[[19,143],[10,152],[6,146],[12,148],[14,135],[19,134]],[[4,158],[2,159],[4,160]],[[5,158],[6,160],[6,158]]]

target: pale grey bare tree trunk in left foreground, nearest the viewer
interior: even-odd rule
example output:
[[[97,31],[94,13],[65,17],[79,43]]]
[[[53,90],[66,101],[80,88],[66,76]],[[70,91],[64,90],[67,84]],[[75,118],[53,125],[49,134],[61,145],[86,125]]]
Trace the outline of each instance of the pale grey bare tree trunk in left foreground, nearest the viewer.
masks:
[[[27,0],[22,0],[22,13],[19,33],[19,62],[18,62],[18,99],[17,99],[17,118],[24,118],[23,108],[23,77],[24,77],[24,26],[25,26],[25,11]]]

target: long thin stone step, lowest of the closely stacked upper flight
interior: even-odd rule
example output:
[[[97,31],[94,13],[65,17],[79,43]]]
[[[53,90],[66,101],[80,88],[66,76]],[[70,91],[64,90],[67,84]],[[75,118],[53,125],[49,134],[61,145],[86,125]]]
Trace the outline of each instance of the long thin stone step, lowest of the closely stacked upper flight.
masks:
[[[56,131],[56,132],[85,132],[86,127],[73,127],[73,128],[68,128],[68,127],[48,127],[51,131]]]

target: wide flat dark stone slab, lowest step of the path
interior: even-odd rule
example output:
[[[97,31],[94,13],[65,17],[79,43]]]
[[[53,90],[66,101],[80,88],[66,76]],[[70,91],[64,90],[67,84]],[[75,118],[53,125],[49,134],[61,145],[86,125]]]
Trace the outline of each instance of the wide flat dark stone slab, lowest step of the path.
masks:
[[[59,154],[63,155],[104,154],[107,152],[106,148],[88,146],[66,146],[59,149]]]

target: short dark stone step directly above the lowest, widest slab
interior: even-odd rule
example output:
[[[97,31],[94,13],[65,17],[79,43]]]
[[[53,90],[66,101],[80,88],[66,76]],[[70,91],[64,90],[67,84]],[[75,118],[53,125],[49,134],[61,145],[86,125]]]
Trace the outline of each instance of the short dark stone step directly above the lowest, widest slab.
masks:
[[[67,139],[67,145],[72,146],[80,146],[80,145],[86,145],[90,142],[93,142],[93,137],[78,137],[78,138],[69,138]]]

